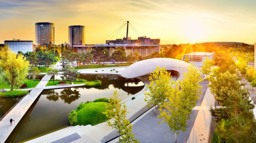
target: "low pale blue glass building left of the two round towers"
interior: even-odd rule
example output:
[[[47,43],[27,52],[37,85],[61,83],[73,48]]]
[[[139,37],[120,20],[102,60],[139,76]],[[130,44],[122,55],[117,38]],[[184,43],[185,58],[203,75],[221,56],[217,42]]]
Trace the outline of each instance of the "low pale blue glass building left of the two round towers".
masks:
[[[5,40],[4,44],[8,44],[8,47],[14,53],[18,53],[18,51],[22,51],[23,53],[33,51],[33,41]]]

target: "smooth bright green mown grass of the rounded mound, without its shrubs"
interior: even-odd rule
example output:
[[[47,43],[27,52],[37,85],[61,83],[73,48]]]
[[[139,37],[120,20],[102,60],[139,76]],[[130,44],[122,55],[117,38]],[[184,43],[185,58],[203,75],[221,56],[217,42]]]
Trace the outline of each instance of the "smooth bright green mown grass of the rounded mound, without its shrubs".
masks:
[[[90,102],[77,111],[79,125],[97,125],[108,120],[103,112],[106,112],[105,104],[108,102]]]

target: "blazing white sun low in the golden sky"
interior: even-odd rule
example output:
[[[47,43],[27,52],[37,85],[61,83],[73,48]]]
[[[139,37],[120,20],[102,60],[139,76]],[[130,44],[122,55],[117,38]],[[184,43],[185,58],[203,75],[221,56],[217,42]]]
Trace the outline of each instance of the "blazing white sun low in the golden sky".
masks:
[[[188,20],[183,23],[183,35],[190,42],[200,42],[205,36],[204,25],[198,20]]]

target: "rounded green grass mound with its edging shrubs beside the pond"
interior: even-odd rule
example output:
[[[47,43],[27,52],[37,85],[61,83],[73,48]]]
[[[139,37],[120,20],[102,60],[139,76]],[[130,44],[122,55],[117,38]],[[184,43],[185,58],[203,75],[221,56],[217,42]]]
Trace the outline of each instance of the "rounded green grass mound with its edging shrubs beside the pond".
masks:
[[[109,120],[103,112],[106,112],[105,104],[108,99],[96,99],[93,102],[87,101],[81,103],[76,110],[72,110],[69,114],[69,123],[75,125],[97,125]]]

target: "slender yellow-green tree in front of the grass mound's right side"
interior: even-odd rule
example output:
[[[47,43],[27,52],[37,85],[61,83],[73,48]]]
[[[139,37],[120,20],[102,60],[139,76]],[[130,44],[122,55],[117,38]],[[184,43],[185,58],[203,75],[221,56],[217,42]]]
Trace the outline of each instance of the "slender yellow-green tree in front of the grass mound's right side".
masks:
[[[113,119],[113,122],[110,122],[110,120],[106,121],[108,126],[111,126],[112,129],[117,129],[117,133],[119,134],[119,141],[118,142],[128,142],[130,140],[133,140],[134,142],[137,141],[133,139],[134,134],[131,134],[131,128],[132,126],[129,125],[129,120],[126,119],[127,115],[127,107],[125,105],[125,102],[121,102],[121,100],[118,99],[117,91],[114,92],[113,96],[109,99],[110,104],[105,104],[105,108],[107,109],[106,112],[103,112],[103,114],[106,114],[106,117],[109,119]],[[121,139],[123,137],[123,139]]]

